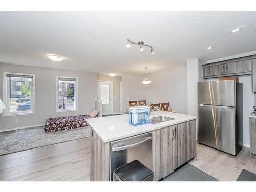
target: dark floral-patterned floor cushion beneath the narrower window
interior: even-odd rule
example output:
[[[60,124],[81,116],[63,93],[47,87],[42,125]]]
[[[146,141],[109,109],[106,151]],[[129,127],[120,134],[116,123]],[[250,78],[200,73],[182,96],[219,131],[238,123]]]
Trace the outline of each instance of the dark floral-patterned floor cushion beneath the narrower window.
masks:
[[[86,122],[89,118],[91,118],[89,115],[50,118],[47,119],[44,130],[45,132],[57,132],[89,126]]]

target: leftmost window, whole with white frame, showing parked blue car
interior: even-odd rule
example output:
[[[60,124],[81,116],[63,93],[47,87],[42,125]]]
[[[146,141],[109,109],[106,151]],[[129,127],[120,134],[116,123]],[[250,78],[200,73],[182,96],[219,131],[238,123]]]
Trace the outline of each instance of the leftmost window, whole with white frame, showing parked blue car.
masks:
[[[3,116],[34,114],[35,75],[4,73]]]

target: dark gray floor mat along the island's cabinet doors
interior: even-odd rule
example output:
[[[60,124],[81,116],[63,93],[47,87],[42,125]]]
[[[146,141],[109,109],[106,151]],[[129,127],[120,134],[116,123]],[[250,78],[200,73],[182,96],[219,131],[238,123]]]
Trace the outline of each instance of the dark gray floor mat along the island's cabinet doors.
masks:
[[[206,174],[197,167],[185,163],[182,167],[175,170],[161,181],[219,181],[218,179]]]

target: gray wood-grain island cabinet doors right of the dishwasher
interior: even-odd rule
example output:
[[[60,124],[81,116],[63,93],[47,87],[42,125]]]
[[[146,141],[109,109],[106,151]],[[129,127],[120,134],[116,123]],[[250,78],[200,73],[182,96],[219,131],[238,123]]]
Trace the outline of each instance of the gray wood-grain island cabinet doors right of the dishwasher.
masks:
[[[152,145],[154,180],[158,181],[196,156],[196,120],[153,131]]]

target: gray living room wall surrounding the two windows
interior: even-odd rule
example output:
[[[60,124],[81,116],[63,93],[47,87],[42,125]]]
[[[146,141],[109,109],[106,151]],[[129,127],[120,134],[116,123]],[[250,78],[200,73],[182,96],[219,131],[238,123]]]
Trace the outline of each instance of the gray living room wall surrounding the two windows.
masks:
[[[56,63],[57,65],[58,63]],[[0,68],[1,69],[1,68]],[[97,97],[97,74],[88,72],[57,70],[2,63],[1,95],[3,98],[3,72],[35,74],[35,114],[0,116],[0,130],[44,124],[50,117],[87,114],[94,109]],[[77,111],[56,112],[56,76],[78,77]],[[19,122],[15,122],[18,118]]]

